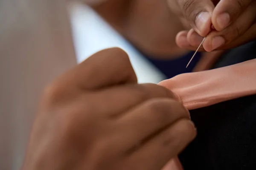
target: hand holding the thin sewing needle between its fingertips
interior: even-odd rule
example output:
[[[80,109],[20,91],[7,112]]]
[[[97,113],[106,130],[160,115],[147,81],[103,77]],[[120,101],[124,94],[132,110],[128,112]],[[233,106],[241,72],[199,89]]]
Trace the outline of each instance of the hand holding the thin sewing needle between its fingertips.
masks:
[[[255,0],[168,0],[171,9],[192,26],[177,34],[181,48],[201,51],[234,48],[256,38]],[[216,6],[215,6],[216,5]],[[177,10],[178,9],[178,10]],[[216,31],[211,31],[213,25]],[[210,32],[211,31],[211,32]]]

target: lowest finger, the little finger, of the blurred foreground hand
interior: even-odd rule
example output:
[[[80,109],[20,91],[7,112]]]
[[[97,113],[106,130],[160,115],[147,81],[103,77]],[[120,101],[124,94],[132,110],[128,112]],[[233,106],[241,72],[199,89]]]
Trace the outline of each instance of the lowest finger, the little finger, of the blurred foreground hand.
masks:
[[[140,166],[139,170],[160,170],[195,136],[194,124],[190,120],[181,119],[131,153],[128,162]]]

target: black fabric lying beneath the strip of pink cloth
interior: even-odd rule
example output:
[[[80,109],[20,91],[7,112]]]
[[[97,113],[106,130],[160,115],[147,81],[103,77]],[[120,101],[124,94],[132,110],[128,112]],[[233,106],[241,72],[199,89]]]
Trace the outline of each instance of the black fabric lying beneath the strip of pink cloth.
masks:
[[[227,51],[214,68],[254,58],[256,41]],[[256,170],[256,95],[190,113],[198,135],[179,156],[184,170]]]

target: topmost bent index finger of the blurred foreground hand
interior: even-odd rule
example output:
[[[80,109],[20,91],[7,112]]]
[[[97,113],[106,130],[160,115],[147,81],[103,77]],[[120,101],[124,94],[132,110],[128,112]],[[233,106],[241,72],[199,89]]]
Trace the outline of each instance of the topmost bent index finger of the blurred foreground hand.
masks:
[[[120,48],[109,48],[93,54],[65,74],[60,83],[69,84],[67,88],[73,85],[82,89],[97,89],[128,82],[137,82],[128,55]]]

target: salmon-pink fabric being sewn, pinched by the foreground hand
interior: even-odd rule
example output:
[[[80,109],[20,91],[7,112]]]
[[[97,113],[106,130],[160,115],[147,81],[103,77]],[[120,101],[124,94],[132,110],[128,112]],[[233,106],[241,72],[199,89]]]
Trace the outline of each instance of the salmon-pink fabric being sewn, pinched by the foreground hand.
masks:
[[[172,90],[188,109],[256,94],[256,59],[209,71],[180,74],[159,83]],[[177,158],[163,170],[182,170]]]

